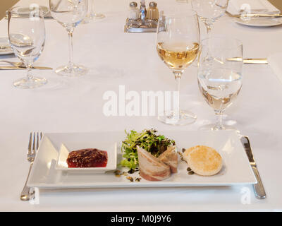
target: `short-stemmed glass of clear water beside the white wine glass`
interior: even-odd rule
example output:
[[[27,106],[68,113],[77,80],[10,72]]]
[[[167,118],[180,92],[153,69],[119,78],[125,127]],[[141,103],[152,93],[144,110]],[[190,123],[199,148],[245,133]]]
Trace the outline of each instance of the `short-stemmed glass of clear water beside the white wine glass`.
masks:
[[[228,37],[202,40],[198,69],[198,85],[204,100],[216,114],[216,124],[204,129],[229,129],[222,115],[233,104],[242,87],[243,44]],[[232,128],[230,128],[232,129]]]

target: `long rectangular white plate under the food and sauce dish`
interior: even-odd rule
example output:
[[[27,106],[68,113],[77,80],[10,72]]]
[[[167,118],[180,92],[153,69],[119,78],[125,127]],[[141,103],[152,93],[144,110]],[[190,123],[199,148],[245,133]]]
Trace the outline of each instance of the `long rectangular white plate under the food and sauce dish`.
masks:
[[[194,145],[215,148],[223,158],[223,169],[212,177],[189,175],[188,165],[180,161],[178,173],[161,182],[130,182],[125,176],[116,177],[114,172],[105,174],[68,174],[55,169],[61,143],[117,143],[118,162],[121,160],[121,141],[124,132],[93,133],[45,133],[32,167],[28,186],[44,189],[71,189],[97,187],[158,187],[158,186],[231,186],[236,184],[256,184],[247,155],[235,131],[159,131],[159,134],[176,141],[178,150]],[[92,147],[95,148],[95,147]],[[138,177],[138,174],[130,174]]]

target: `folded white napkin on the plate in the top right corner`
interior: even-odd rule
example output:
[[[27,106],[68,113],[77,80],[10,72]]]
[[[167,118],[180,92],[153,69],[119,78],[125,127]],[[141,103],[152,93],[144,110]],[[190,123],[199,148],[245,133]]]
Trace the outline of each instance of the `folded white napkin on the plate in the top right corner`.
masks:
[[[229,6],[233,8],[233,11],[239,13],[241,9],[247,12],[258,11],[262,13],[280,11],[274,5],[267,0],[230,0]],[[228,7],[229,8],[229,7]]]

